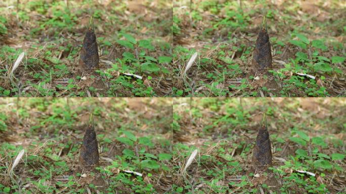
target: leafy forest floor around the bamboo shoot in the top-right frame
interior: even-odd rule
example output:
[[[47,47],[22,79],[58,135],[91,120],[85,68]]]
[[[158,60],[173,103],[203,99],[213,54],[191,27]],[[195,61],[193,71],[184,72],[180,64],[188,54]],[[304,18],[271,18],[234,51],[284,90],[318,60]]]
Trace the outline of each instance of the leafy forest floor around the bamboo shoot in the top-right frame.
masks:
[[[174,1],[172,95],[344,96],[345,8],[344,1]],[[272,67],[258,75],[251,71],[264,17]]]

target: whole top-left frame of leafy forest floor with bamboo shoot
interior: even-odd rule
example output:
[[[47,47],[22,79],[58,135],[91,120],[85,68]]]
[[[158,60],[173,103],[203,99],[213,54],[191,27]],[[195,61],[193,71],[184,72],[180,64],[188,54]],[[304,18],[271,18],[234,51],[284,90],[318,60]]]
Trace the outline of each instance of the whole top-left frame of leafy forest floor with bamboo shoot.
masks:
[[[171,89],[171,1],[7,0],[0,12],[0,96],[164,96]],[[80,72],[83,64],[91,73]]]

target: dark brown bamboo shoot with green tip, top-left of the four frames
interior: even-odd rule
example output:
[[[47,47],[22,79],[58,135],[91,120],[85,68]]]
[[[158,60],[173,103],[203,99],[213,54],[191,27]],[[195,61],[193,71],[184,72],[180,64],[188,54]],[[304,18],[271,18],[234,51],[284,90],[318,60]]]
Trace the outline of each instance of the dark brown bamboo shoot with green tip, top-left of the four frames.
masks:
[[[91,17],[88,30],[85,33],[83,47],[80,51],[78,72],[92,73],[99,68],[99,52],[95,35],[95,26]]]

